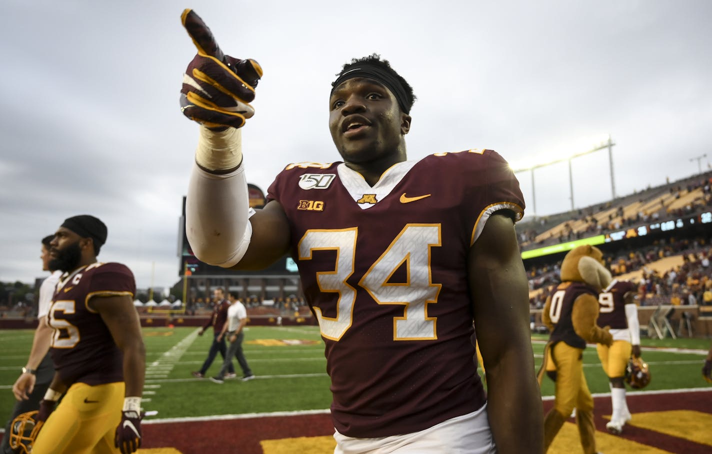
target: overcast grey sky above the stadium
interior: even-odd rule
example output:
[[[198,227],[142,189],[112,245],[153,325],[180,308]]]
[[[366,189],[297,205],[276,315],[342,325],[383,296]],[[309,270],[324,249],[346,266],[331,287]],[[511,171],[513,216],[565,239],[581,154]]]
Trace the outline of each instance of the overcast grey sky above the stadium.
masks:
[[[0,281],[45,275],[40,239],[80,213],[108,225],[100,260],[128,265],[139,287],[177,281],[197,142],[178,105],[195,53],[184,7],[226,53],[263,67],[243,132],[248,181],[263,190],[290,162],[338,160],[330,83],[373,52],[419,98],[409,159],[491,148],[520,169],[610,134],[619,196],[712,160],[707,0],[3,3]],[[611,198],[606,152],[572,169],[577,208]],[[536,214],[570,208],[567,172],[535,173]],[[518,177],[532,216],[530,175]]]

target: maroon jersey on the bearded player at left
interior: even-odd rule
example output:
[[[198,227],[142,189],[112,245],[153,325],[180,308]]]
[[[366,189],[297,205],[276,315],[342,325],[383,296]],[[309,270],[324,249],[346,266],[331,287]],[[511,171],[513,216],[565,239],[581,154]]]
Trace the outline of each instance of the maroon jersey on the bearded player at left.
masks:
[[[120,263],[92,263],[57,285],[48,323],[54,328],[51,354],[66,386],[123,381],[123,355],[90,298],[136,293],[133,273]]]

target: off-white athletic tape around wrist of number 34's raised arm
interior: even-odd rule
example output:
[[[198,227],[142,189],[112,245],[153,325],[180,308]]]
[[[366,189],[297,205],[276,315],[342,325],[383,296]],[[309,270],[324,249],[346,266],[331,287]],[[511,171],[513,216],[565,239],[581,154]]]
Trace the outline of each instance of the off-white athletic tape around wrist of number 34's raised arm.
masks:
[[[211,131],[200,127],[195,162],[208,170],[234,169],[242,162],[242,132],[234,127]]]

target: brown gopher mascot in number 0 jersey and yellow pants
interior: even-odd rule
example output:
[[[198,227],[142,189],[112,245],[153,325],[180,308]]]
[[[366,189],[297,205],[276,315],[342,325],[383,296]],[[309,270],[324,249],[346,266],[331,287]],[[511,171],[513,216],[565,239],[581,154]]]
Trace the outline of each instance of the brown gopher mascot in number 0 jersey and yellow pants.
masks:
[[[586,343],[610,345],[608,327],[600,328],[598,293],[611,281],[600,249],[579,246],[561,264],[561,283],[547,298],[542,321],[551,336],[538,374],[555,381],[555,404],[544,420],[544,448],[548,450],[561,426],[576,408],[576,425],[585,454],[596,453],[593,398],[583,374]]]

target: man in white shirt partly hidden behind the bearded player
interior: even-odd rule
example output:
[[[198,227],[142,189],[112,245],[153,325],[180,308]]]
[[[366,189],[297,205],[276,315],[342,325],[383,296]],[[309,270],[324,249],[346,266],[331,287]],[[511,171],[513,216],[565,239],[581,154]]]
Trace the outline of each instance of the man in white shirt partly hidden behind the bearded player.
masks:
[[[53,238],[54,235],[42,238],[42,255],[40,255],[42,259],[42,270],[51,271],[52,274],[43,280],[40,286],[37,312],[38,324],[35,329],[32,349],[26,366],[22,368],[22,374],[12,386],[12,392],[18,402],[15,403],[7,425],[5,426],[5,436],[2,439],[2,443],[0,443],[0,454],[14,452],[10,449],[9,445],[9,433],[12,421],[16,416],[22,413],[34,411],[39,408],[40,401],[44,397],[54,376],[54,365],[51,356],[48,354],[54,329],[47,324],[47,315],[52,305],[54,289],[62,272],[49,268],[49,261],[51,259],[49,255],[49,243]]]

